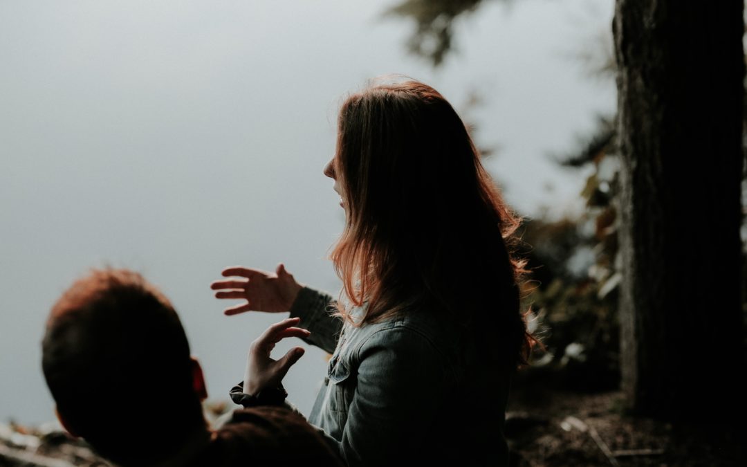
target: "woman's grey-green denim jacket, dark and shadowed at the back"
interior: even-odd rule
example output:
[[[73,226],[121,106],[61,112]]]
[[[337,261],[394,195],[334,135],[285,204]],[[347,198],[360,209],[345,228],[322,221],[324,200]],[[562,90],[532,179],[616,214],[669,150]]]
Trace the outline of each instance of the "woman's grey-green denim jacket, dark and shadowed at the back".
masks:
[[[303,288],[291,317],[332,353],[309,422],[338,442],[349,466],[507,465],[512,368],[427,310],[355,327],[333,308],[328,294]]]

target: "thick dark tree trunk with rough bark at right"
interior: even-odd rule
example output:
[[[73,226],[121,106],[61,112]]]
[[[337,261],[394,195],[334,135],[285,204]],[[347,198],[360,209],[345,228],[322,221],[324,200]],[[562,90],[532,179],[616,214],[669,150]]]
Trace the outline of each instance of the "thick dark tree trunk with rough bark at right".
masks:
[[[743,0],[617,0],[622,387],[666,419],[744,413]]]

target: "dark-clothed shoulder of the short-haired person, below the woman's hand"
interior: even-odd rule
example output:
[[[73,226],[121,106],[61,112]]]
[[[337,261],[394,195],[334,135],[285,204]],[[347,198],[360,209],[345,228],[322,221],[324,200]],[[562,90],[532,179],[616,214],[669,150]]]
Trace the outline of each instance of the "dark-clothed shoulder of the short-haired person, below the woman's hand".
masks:
[[[235,409],[213,433],[209,450],[215,466],[341,465],[338,454],[301,415],[278,406]]]

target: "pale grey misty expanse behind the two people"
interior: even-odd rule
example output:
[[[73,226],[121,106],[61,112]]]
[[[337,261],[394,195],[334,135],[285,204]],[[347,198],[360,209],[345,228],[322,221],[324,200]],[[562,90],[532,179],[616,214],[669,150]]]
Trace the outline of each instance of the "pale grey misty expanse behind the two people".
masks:
[[[225,398],[249,342],[283,316],[226,318],[208,285],[229,265],[285,262],[338,291],[326,253],[343,214],[321,170],[341,99],[373,76],[421,79],[477,123],[521,213],[577,209],[583,174],[548,155],[613,111],[614,84],[578,59],[603,47],[612,1],[486,1],[440,69],[406,54],[412,25],[382,19],[391,4],[0,0],[0,421],[53,418],[43,324],[93,266],[161,286]],[[471,93],[483,105],[468,108]],[[324,368],[311,351],[288,374],[302,412]]]

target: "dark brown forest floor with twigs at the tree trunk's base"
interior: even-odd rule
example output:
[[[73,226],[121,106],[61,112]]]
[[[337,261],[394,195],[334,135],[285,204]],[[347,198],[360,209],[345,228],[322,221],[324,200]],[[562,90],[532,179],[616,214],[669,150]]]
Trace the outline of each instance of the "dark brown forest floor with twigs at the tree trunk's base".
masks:
[[[519,381],[506,438],[512,466],[747,466],[744,425],[632,417],[621,392],[580,394]]]

